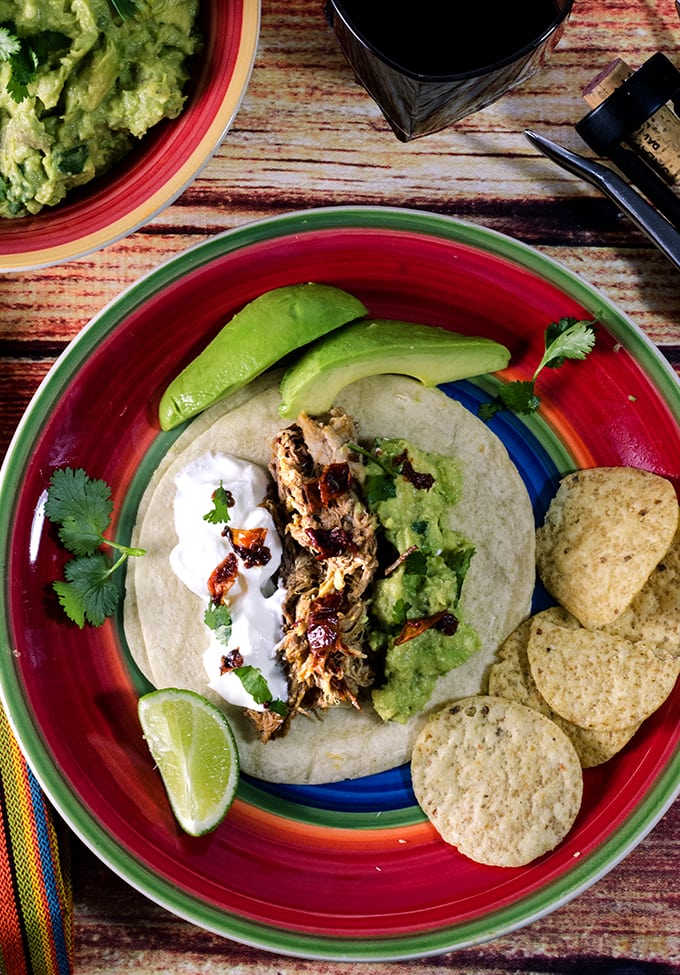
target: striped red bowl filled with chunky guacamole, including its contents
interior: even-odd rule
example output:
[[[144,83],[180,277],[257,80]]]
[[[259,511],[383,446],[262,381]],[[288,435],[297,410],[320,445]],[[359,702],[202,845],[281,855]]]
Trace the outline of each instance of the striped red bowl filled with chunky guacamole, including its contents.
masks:
[[[0,0],[0,269],[70,260],[172,202],[247,87],[259,0]]]

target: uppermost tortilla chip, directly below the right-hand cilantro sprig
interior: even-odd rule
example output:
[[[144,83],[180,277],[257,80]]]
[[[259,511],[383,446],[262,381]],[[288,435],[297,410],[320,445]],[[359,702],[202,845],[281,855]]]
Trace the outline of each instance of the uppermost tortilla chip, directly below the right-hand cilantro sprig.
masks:
[[[616,620],[668,551],[678,527],[670,481],[634,467],[563,478],[536,533],[548,592],[589,629]]]

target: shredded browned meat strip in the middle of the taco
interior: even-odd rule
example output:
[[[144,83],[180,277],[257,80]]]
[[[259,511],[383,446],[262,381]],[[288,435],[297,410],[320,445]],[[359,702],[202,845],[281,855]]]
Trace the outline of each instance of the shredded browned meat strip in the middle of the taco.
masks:
[[[373,672],[364,651],[366,593],[377,564],[376,522],[357,490],[354,422],[302,414],[273,444],[270,470],[282,509],[284,638],[289,712],[359,707]]]

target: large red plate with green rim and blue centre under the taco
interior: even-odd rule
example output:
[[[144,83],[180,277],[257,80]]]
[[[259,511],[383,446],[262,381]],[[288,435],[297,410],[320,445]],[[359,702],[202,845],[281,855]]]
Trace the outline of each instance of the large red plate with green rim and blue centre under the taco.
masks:
[[[53,368],[16,434],[0,485],[0,681],[17,737],[73,829],[169,910],[227,937],[313,958],[409,958],[476,944],[584,890],[652,828],[680,789],[680,687],[606,766],[585,774],[578,820],[522,868],[480,866],[441,842],[407,767],[328,787],[244,780],[224,824],[201,839],[175,825],[136,716],[146,685],[116,619],[68,625],[50,582],[62,555],[42,503],[57,466],[107,480],[130,531],[150,472],[172,442],[156,410],[166,383],[261,292],[325,281],[378,316],[450,326],[507,344],[502,376],[456,383],[476,410],[499,382],[527,378],[545,327],[598,318],[594,353],[542,374],[540,412],[492,422],[540,519],[558,476],[630,464],[680,478],[680,389],[607,298],[508,237],[446,217],[331,208],[214,237],[105,308]],[[159,625],[163,622],[159,607]]]

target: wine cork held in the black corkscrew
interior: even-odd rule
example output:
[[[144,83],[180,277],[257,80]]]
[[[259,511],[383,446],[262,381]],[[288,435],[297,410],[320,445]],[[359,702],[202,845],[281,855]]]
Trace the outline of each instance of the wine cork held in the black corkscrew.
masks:
[[[584,89],[583,97],[591,108],[597,108],[632,74],[633,69],[616,58]],[[680,118],[671,105],[662,105],[630,133],[628,142],[668,183],[680,180]]]

